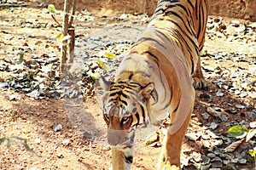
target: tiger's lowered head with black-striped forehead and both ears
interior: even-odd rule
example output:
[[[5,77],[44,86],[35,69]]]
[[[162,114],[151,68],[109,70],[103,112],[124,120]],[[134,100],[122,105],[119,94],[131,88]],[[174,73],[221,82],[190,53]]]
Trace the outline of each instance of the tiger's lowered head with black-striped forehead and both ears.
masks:
[[[96,94],[108,126],[108,144],[119,150],[131,149],[137,127],[147,126],[148,99],[154,84],[145,86],[127,80],[108,82],[104,77],[96,81]]]

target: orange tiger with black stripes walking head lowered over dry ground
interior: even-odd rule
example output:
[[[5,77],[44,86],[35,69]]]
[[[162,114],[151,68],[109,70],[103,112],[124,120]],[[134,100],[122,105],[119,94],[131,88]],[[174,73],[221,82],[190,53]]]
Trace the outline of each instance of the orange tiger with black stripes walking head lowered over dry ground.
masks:
[[[200,65],[207,9],[207,0],[160,0],[113,80],[102,77],[96,81],[113,170],[131,169],[137,127],[158,123],[166,116],[171,125],[163,139],[157,169],[181,167],[180,152],[194,107],[194,88],[207,87]]]

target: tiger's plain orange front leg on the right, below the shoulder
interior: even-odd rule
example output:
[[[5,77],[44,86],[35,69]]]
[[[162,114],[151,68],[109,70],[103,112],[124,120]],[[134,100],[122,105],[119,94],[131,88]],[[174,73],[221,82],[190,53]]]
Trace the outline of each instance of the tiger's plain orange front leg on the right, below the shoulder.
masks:
[[[187,127],[189,126],[189,120],[191,113],[193,111],[193,106],[189,111],[189,115],[187,116],[185,122],[183,122],[183,126],[177,130],[176,133],[171,134],[169,127],[168,132],[166,133],[165,139],[163,140],[162,150],[160,152],[159,161],[157,164],[158,170],[167,170],[167,169],[181,169],[180,167],[180,153],[183,144],[183,138],[186,133]],[[176,113],[172,113],[174,116]],[[172,126],[171,122],[171,126]]]

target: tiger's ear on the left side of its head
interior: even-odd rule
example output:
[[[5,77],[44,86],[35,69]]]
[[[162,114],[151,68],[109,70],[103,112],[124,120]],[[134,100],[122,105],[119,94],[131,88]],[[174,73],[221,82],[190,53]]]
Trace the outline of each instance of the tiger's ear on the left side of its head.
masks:
[[[111,85],[111,82],[107,81],[104,77],[100,77],[96,79],[96,82],[95,82],[96,97],[101,106],[103,106],[103,98],[105,96],[104,94],[109,92],[110,85]]]

